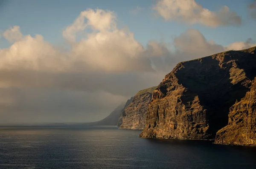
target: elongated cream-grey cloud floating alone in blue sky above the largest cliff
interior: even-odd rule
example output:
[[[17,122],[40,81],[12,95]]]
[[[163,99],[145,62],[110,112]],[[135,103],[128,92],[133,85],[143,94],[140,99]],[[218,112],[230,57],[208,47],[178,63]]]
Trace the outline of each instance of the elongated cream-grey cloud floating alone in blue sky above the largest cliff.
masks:
[[[199,23],[210,27],[241,25],[241,17],[227,6],[222,6],[219,11],[210,11],[195,0],[157,0],[153,9],[165,20]]]

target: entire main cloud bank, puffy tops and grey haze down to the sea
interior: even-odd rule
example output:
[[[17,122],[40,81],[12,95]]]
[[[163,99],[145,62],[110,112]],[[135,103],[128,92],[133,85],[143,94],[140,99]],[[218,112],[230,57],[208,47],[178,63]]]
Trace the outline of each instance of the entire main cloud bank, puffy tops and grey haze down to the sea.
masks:
[[[113,11],[101,9],[82,11],[62,33],[67,49],[40,34],[24,35],[19,26],[3,33],[12,45],[0,49],[0,123],[100,120],[137,91],[158,85],[180,61],[253,45],[249,39],[225,47],[188,29],[173,46],[151,40],[144,47],[117,28]]]

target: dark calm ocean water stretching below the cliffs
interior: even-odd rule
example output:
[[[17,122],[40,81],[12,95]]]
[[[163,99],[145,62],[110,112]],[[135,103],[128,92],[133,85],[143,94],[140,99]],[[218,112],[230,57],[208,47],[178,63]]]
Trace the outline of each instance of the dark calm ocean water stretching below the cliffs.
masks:
[[[0,169],[256,169],[256,147],[139,138],[114,126],[0,128]]]

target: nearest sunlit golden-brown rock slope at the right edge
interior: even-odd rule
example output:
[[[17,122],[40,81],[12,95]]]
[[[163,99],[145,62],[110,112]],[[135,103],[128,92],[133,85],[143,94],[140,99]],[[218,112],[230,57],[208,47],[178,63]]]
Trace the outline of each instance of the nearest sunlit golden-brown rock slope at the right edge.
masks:
[[[256,78],[250,92],[230,108],[228,125],[217,132],[215,143],[256,146]]]

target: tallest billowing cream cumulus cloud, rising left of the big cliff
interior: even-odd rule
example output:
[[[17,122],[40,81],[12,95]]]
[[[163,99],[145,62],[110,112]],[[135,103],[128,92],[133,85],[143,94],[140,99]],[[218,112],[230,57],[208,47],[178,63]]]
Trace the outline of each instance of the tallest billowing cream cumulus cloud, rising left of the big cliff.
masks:
[[[81,31],[84,38],[74,42],[76,33]],[[134,39],[132,32],[116,28],[116,16],[112,11],[82,11],[75,22],[63,31],[63,35],[73,42],[71,55],[79,63],[86,63],[87,70],[151,69],[150,60],[142,55],[143,46]]]

